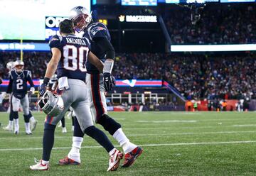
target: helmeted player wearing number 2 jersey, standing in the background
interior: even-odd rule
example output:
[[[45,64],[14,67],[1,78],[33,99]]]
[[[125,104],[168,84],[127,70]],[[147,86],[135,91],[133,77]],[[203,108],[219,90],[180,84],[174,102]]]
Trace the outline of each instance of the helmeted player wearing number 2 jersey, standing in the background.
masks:
[[[14,119],[14,133],[19,133],[18,109],[21,104],[23,109],[26,134],[32,134],[29,121],[31,120],[33,121],[31,123],[36,124],[36,120],[29,111],[28,94],[33,94],[35,92],[34,84],[31,78],[31,72],[28,70],[23,70],[24,62],[21,60],[16,60],[16,62],[14,62],[14,66],[14,70],[9,72],[9,85],[6,91],[7,94],[12,93],[10,116],[12,116]],[[27,82],[29,82],[31,86],[29,91]]]

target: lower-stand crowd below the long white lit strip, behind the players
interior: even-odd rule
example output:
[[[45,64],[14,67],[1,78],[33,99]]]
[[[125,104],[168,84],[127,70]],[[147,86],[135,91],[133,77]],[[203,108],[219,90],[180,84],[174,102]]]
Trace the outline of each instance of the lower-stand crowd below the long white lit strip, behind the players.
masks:
[[[8,78],[6,63],[19,53],[1,53],[1,77]],[[42,79],[50,53],[24,53],[25,69]],[[187,99],[256,98],[255,55],[169,55],[117,53],[116,79],[163,79]]]

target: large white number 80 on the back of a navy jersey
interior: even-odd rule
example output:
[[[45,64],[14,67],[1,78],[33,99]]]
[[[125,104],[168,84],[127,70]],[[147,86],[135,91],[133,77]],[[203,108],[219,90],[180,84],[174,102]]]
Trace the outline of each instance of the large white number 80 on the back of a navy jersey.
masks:
[[[65,45],[63,48],[63,65],[67,70],[80,70],[86,72],[85,63],[87,61],[89,48],[81,46],[80,48],[74,45]]]

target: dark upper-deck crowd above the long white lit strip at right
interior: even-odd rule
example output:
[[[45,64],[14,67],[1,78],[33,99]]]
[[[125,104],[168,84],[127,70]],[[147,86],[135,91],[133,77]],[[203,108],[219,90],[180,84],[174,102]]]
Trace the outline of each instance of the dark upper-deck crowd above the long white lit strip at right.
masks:
[[[179,7],[166,10],[163,16],[174,44],[256,42],[256,21],[252,18],[256,16],[255,4],[221,4],[192,9]]]

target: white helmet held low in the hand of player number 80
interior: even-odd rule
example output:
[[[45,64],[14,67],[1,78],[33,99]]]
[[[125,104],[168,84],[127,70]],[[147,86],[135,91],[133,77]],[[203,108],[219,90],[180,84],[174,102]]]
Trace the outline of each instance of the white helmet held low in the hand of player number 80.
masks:
[[[60,95],[46,91],[38,101],[38,106],[48,116],[58,116],[64,109],[64,102]]]

